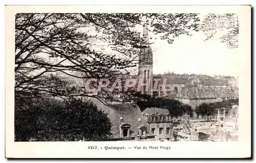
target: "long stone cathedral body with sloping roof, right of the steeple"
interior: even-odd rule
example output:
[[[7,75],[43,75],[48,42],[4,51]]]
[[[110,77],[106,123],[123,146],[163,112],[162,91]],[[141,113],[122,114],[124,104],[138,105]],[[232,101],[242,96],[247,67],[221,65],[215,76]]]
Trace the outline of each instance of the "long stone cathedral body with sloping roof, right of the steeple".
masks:
[[[163,80],[166,83],[163,83]],[[167,91],[162,91],[165,86]],[[238,98],[237,85],[231,85],[227,79],[198,77],[163,77],[158,84],[158,96],[176,99],[196,109],[201,103],[221,102]],[[198,118],[196,112],[195,118]]]

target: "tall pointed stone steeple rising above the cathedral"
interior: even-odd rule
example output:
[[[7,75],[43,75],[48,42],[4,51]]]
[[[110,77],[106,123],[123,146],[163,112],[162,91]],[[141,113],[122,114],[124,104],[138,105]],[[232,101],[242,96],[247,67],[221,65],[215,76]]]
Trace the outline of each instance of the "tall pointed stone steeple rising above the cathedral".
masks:
[[[150,91],[153,89],[153,54],[152,49],[150,46],[150,41],[148,38],[148,28],[147,28],[148,21],[146,20],[145,24],[143,25],[143,35],[142,35],[142,44],[139,54],[139,69],[138,69],[138,77],[139,79],[143,79],[143,82],[150,80]],[[144,91],[142,91],[144,92]],[[151,92],[152,93],[152,92]]]

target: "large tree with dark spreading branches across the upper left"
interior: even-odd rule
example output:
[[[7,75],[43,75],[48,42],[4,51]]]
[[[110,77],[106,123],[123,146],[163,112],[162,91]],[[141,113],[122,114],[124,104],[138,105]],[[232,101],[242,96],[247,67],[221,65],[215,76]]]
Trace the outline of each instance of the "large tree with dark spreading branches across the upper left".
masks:
[[[137,65],[143,48],[135,28],[145,23],[143,16],[169,43],[196,30],[199,21],[197,14],[16,14],[15,99],[88,97],[75,81],[122,77],[124,69]]]

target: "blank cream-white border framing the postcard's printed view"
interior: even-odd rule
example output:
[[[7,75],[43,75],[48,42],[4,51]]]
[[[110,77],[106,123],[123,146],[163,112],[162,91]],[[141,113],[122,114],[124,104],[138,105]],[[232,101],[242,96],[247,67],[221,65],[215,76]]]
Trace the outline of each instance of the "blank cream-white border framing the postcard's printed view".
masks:
[[[13,142],[13,84],[14,84],[14,19],[17,12],[180,12],[209,13],[237,12],[240,21],[240,54],[243,65],[240,67],[240,132],[239,142]],[[6,156],[7,157],[58,157],[58,158],[131,158],[131,157],[248,157],[250,153],[250,8],[246,6],[7,6],[6,12]],[[244,122],[244,123],[243,123]],[[154,146],[170,145],[172,150],[125,150],[93,151],[87,146]],[[210,147],[210,148],[209,148]],[[208,149],[208,152],[205,152]],[[99,154],[100,153],[100,154]]]

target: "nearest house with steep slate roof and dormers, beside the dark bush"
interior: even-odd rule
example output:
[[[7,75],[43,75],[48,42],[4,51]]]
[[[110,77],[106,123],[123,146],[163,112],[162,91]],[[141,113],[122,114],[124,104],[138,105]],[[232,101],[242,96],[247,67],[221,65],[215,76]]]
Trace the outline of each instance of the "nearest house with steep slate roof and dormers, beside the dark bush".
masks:
[[[155,141],[139,107],[131,102],[102,103],[92,99],[99,110],[108,113],[112,124],[109,141]]]

